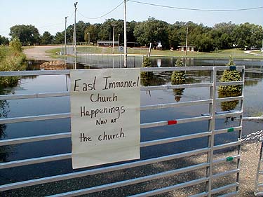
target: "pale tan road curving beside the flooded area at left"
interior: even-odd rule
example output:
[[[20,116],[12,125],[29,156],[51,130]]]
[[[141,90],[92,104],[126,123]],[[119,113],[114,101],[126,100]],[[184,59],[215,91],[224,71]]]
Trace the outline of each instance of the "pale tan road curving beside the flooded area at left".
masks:
[[[27,55],[28,60],[58,60],[52,57],[49,57],[47,53],[45,53],[48,49],[60,48],[60,46],[34,46],[34,48],[27,48],[23,50],[25,55]]]

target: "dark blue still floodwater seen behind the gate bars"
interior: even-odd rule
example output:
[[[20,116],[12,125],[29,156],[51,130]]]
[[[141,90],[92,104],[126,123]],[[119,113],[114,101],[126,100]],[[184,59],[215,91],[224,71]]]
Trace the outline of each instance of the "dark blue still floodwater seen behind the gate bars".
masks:
[[[137,58],[137,59],[136,59]],[[131,60],[133,58],[131,57]],[[137,62],[131,62],[140,67],[142,57],[134,57]],[[156,67],[173,66],[175,58],[154,57],[152,64]],[[110,60],[111,62],[111,60]],[[187,66],[199,65],[224,65],[228,60],[187,60]],[[109,63],[109,62],[108,62]],[[245,88],[244,88],[244,114],[243,116],[258,116],[263,112],[263,74],[262,61],[238,60],[236,64],[245,64]],[[128,63],[129,65],[129,63]],[[95,65],[90,65],[94,67]],[[133,67],[133,66],[131,66]],[[79,68],[86,66],[79,65]],[[37,65],[30,65],[28,69],[39,69]],[[155,86],[170,84],[169,72],[154,74],[154,81],[142,81],[142,86]],[[205,83],[210,81],[209,72],[187,72],[187,83]],[[67,91],[69,87],[69,76],[25,76],[20,79],[18,86],[6,88],[2,94],[29,94],[29,93],[50,93]],[[141,93],[141,105],[160,104],[170,102],[184,102],[194,100],[205,100],[209,98],[208,88],[188,88],[184,90],[154,90]],[[236,105],[236,109],[240,104]],[[53,97],[26,100],[6,100],[1,102],[1,118],[11,118],[18,116],[32,116],[42,114],[68,113],[69,97]],[[189,118],[201,116],[208,113],[208,104],[194,107],[177,107],[169,109],[156,109],[141,111],[141,123],[152,121],[163,121],[169,119]],[[222,111],[222,106],[217,105],[217,111]],[[261,115],[260,114],[260,115]],[[238,125],[238,121],[228,119],[219,119],[216,121],[216,129],[231,128]],[[190,133],[201,133],[208,130],[208,121],[199,121],[194,123],[183,123],[178,125],[161,126],[157,128],[146,128],[141,130],[141,141],[157,140],[166,137],[175,137],[187,135]],[[262,123],[244,122],[243,134],[262,130]],[[70,132],[69,118],[62,118],[50,121],[33,121],[26,123],[10,123],[1,125],[0,139],[6,140],[14,137],[29,137],[35,135],[47,135],[54,133]],[[227,135],[218,135],[215,139],[216,144],[223,141],[232,142],[236,140],[237,133]],[[141,149],[141,158],[152,158],[167,154],[175,154],[182,151],[206,147],[207,137],[201,137],[196,140],[187,140],[186,142],[175,142],[154,147],[145,147]],[[187,144],[187,146],[186,146]],[[0,161],[8,162],[26,158],[49,156],[55,154],[66,154],[71,152],[71,140],[69,138],[62,140],[49,140],[43,142],[32,142],[26,144],[16,144],[12,146],[1,147]],[[31,173],[28,173],[30,169]],[[83,170],[83,169],[81,169]],[[60,175],[66,172],[76,172],[72,170],[70,160],[41,163],[37,165],[28,165],[24,167],[0,170],[0,184],[18,182],[26,179],[45,177],[50,175]]]

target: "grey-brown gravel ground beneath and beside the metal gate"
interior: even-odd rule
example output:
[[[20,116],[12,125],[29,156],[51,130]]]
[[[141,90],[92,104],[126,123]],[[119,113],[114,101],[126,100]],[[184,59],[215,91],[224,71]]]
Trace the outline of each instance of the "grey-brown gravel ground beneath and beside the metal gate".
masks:
[[[255,196],[255,176],[257,173],[257,163],[259,160],[260,144],[257,142],[243,143],[241,151],[241,172],[240,172],[240,187],[239,196]],[[224,153],[215,154],[215,158],[226,158],[237,154],[236,150],[225,151]],[[172,161],[165,161],[161,163],[154,163],[151,165],[144,165],[126,170],[118,170],[116,172],[107,172],[98,175],[90,175],[88,177],[81,177],[77,179],[69,179],[61,182],[52,182],[50,184],[41,184],[38,186],[29,186],[23,189],[15,189],[13,191],[5,191],[0,193],[0,196],[48,196],[55,193],[62,193],[77,189],[83,189],[97,184],[109,184],[111,182],[119,182],[121,180],[142,177],[151,175],[157,172],[165,172],[166,170],[176,169],[178,167],[186,167],[206,161],[206,155],[190,156],[188,158],[180,158]],[[222,163],[215,165],[213,173],[224,172],[225,170],[236,169],[236,161]],[[102,196],[130,196],[135,193],[142,193],[149,190],[159,189],[163,186],[170,186],[179,184],[180,182],[190,181],[191,179],[198,179],[205,177],[205,169],[185,172],[182,175],[174,175],[166,178],[156,179],[149,182],[134,184],[130,186],[123,186],[118,189],[110,189],[108,191],[89,194],[88,196],[102,197]],[[227,183],[236,182],[236,175],[221,177],[213,181],[213,188],[224,186]],[[205,191],[205,184],[198,184],[187,187],[185,189],[177,189],[169,193],[163,193],[158,196],[191,196],[196,193]],[[231,191],[234,191],[233,189]],[[221,193],[222,194],[222,193]],[[217,193],[218,196],[220,193]]]

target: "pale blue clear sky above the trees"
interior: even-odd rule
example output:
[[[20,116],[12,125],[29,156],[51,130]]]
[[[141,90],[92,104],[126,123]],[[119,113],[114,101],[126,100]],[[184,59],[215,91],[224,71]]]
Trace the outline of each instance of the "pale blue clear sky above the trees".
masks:
[[[39,33],[48,31],[55,35],[65,29],[65,17],[68,16],[67,26],[74,24],[74,3],[76,5],[76,22],[103,23],[109,18],[123,20],[123,0],[0,0],[0,35],[8,36],[10,27],[14,25],[34,25]],[[262,0],[136,0],[147,4],[162,6],[194,8],[194,9],[243,9],[263,7]],[[118,8],[118,6],[121,4]],[[114,11],[112,11],[116,8]],[[109,13],[109,11],[112,11]],[[109,13],[108,15],[105,15]],[[102,15],[105,15],[101,17]],[[127,21],[137,22],[154,17],[170,24],[176,21],[203,23],[213,27],[220,22],[231,21],[234,24],[245,22],[263,25],[263,8],[250,11],[189,11],[175,8],[165,8],[138,4],[127,1]],[[92,19],[97,18],[97,19]]]

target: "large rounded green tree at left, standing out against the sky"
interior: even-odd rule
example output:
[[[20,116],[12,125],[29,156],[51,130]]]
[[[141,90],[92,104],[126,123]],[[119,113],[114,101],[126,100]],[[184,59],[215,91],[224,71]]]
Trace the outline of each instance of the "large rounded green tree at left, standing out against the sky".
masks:
[[[40,41],[39,30],[34,25],[15,25],[10,28],[12,39],[18,38],[22,46],[36,45]]]

